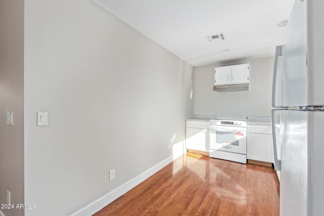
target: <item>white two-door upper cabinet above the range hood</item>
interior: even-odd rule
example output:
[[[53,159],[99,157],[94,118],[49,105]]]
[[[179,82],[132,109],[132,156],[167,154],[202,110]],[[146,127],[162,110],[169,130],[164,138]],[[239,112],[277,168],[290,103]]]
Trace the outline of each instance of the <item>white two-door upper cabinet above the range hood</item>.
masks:
[[[215,85],[249,83],[250,64],[215,68]]]

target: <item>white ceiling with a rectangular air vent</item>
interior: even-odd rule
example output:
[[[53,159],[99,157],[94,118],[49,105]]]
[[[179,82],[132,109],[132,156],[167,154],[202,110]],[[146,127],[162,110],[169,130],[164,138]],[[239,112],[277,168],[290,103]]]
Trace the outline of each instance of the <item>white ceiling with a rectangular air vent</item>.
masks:
[[[93,0],[192,66],[274,56],[294,0]],[[224,40],[206,36],[223,33]],[[228,49],[227,52],[221,50]]]

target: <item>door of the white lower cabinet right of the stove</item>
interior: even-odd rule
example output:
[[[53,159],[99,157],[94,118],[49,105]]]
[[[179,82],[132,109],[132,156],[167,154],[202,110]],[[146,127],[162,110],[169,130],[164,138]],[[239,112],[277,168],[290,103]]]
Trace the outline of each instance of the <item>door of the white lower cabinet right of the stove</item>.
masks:
[[[271,135],[248,133],[247,158],[273,163],[273,148]]]

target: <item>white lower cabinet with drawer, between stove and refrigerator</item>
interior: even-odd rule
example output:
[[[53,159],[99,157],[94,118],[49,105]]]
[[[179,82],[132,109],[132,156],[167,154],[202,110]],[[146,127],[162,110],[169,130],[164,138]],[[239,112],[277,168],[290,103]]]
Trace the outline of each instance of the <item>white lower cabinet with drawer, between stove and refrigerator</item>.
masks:
[[[248,124],[247,158],[273,163],[270,125]]]

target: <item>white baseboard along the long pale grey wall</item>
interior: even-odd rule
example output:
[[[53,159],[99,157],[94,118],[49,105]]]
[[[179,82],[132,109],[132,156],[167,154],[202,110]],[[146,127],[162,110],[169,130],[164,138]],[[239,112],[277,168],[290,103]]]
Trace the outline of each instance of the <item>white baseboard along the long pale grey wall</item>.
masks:
[[[107,193],[106,195],[100,197],[99,199],[93,201],[89,205],[72,213],[70,216],[89,216],[89,215],[96,213],[97,211],[99,211],[100,209],[102,209],[103,207],[105,207],[106,205],[108,205],[109,203],[111,203],[112,201],[114,201],[115,199],[120,197],[121,195],[125,194],[127,191],[131,190],[132,188],[134,188],[135,186],[137,186],[138,184],[140,184],[141,182],[143,182],[144,180],[146,180],[147,178],[149,178],[150,176],[155,174],[155,172],[157,172],[161,168],[165,167],[172,161],[173,161],[173,155],[168,157],[167,159],[159,162],[158,164],[154,165],[153,167],[147,169],[146,171],[144,171],[142,174],[135,177],[134,179],[126,182],[125,184],[114,189],[113,191],[111,191],[111,192]]]

